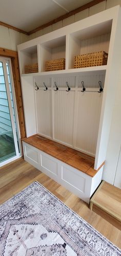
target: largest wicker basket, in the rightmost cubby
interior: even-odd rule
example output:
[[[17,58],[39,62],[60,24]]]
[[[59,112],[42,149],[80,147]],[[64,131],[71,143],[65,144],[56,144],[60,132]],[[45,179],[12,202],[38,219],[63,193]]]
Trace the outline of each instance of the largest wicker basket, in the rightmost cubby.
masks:
[[[74,69],[77,69],[78,67],[106,65],[107,60],[108,54],[103,51],[78,55],[74,57]]]

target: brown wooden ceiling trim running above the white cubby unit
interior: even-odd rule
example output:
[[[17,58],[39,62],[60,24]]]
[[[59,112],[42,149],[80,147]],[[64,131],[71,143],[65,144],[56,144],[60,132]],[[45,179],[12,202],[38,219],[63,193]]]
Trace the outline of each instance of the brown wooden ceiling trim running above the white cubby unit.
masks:
[[[35,33],[38,30],[41,30],[41,29],[43,29],[45,27],[48,27],[48,26],[50,26],[50,25],[52,25],[52,24],[54,24],[54,23],[56,23],[58,21],[62,21],[64,19],[70,17],[71,15],[74,15],[77,12],[83,11],[83,10],[85,10],[87,8],[90,8],[90,7],[94,6],[94,5],[97,5],[97,4],[101,3],[101,2],[104,2],[104,0],[93,0],[93,1],[89,2],[88,4],[85,4],[85,5],[81,6],[81,7],[78,7],[75,10],[72,10],[72,11],[70,11],[70,12],[68,12],[68,13],[66,13],[66,14],[64,14],[62,16],[59,16],[58,18],[56,18],[56,19],[54,19],[54,20],[52,20],[52,21],[50,21],[50,22],[48,22],[48,23],[46,23],[44,25],[41,25],[41,26],[39,26],[39,27],[29,31],[28,35],[31,35],[32,33]]]

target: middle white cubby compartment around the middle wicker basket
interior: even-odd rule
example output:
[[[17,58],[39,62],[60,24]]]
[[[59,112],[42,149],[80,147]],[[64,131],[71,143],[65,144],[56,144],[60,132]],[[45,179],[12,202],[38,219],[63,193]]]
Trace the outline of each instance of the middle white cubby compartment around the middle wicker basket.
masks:
[[[45,62],[66,58],[66,36],[44,42],[41,47],[41,72],[45,70]]]

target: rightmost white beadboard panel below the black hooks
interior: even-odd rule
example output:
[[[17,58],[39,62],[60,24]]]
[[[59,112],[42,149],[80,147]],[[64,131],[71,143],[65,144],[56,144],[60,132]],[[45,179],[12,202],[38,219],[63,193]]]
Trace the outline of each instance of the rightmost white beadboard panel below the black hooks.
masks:
[[[75,148],[95,156],[102,93],[77,92]]]

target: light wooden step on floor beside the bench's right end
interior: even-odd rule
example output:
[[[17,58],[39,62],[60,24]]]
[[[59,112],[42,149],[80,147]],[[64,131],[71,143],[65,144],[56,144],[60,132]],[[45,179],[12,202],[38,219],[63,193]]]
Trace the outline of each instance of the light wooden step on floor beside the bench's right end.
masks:
[[[103,181],[90,200],[90,209],[121,230],[121,190]]]

